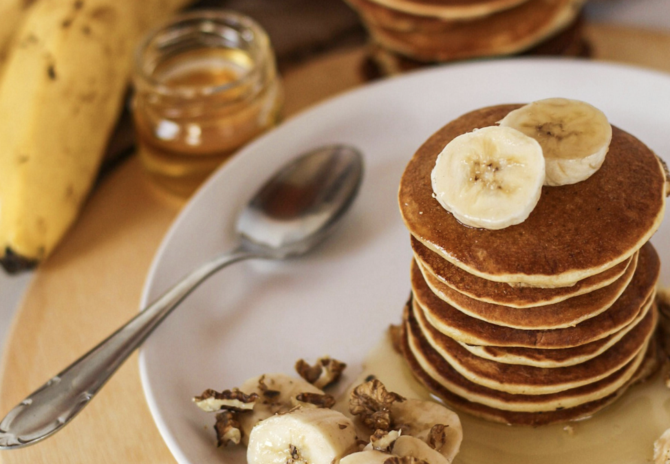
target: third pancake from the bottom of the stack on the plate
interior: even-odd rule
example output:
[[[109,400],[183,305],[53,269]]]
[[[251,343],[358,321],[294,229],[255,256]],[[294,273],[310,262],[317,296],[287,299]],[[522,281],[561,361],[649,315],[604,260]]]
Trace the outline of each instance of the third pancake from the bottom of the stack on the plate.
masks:
[[[515,395],[547,395],[598,382],[631,362],[651,338],[656,327],[656,312],[653,309],[649,311],[649,316],[603,354],[580,364],[557,368],[502,364],[473,355],[461,344],[431,327],[422,318],[421,311],[413,313],[409,309],[407,323],[411,325],[411,334],[415,338],[427,342],[435,351],[435,356],[468,381]],[[415,357],[418,357],[417,353]],[[444,367],[444,364],[440,363],[440,366]],[[444,375],[442,367],[436,368]]]

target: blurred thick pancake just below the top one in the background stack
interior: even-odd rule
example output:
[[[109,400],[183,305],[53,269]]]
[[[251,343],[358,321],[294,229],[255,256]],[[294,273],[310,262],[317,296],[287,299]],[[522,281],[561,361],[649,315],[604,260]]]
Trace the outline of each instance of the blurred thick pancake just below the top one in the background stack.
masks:
[[[347,0],[363,17],[372,41],[419,61],[516,54],[567,28],[584,0],[528,0],[487,16],[444,19]]]

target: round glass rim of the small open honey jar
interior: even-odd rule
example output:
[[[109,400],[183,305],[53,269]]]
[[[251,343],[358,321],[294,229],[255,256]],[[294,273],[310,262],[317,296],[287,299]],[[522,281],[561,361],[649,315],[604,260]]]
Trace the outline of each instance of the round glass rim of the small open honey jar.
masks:
[[[186,29],[189,24],[191,24],[191,29],[204,26],[204,29],[198,32],[211,32],[214,25],[237,29],[237,35],[243,37],[247,43],[252,45],[250,50],[245,50],[251,52],[252,65],[245,69],[239,78],[224,84],[203,86],[166,85],[153,75],[153,71],[155,71],[160,60],[154,63],[153,67],[148,67],[146,54],[153,45],[157,43],[160,45],[161,39],[177,41],[180,38],[179,34],[175,32],[171,34],[171,31],[177,30],[179,32],[180,28]],[[233,10],[195,10],[174,16],[144,36],[135,51],[134,80],[138,89],[151,89],[152,92],[159,93],[162,96],[183,98],[210,96],[259,80],[259,78],[262,78],[264,64],[268,60],[272,60],[272,66],[274,66],[270,38],[257,21]]]

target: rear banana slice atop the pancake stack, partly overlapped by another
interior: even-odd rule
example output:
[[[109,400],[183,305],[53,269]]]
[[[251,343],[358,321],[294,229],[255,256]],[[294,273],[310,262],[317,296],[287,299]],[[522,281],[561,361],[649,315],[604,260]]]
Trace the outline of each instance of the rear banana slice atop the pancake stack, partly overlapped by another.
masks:
[[[532,102],[511,111],[499,124],[539,142],[548,186],[576,184],[591,177],[605,161],[612,140],[612,126],[603,111],[568,98]]]

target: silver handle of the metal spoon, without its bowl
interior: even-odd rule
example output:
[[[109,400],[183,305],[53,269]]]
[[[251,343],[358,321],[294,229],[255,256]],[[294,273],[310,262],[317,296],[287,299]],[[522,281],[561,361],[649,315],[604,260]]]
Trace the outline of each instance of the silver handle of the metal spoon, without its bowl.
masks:
[[[262,257],[238,247],[188,274],[94,349],[14,406],[0,422],[0,449],[31,445],[60,430],[199,284],[229,264]]]

